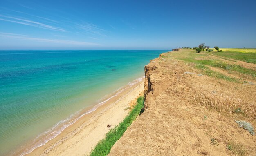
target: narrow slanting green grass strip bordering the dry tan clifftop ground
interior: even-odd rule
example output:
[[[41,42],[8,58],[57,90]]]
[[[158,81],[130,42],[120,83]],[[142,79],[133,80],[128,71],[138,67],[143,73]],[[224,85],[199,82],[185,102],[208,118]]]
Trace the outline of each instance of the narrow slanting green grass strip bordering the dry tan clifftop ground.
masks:
[[[240,82],[237,78],[232,78],[232,77],[226,76],[224,74],[221,74],[220,72],[213,71],[205,65],[195,65],[195,68],[200,69],[203,72],[203,74],[207,75],[207,76],[224,79],[224,80],[227,80],[230,82],[236,82],[236,83]]]

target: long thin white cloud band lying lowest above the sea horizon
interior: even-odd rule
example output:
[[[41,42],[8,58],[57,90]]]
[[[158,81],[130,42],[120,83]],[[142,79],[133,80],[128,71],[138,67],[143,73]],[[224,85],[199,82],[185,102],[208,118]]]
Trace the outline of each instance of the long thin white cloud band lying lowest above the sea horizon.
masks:
[[[33,38],[22,34],[15,34],[15,33],[3,33],[0,32],[1,37],[6,38],[17,38],[21,40],[34,40],[39,42],[50,42],[50,43],[61,43],[61,44],[67,44],[67,45],[99,45],[97,43],[91,43],[91,42],[80,42],[80,41],[74,41],[74,40],[57,40],[57,39],[46,39],[46,38]]]

